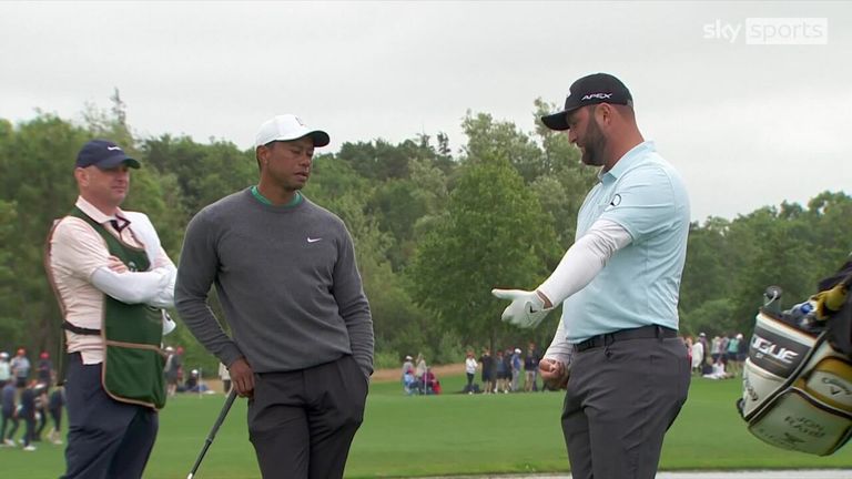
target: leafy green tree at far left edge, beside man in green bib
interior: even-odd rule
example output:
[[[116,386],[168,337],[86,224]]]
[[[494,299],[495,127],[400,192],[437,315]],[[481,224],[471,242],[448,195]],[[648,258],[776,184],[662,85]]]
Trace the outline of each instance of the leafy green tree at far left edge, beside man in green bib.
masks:
[[[60,315],[44,274],[44,242],[53,220],[73,205],[73,162],[90,134],[50,114],[3,130],[0,201],[7,204],[3,224],[8,230],[2,249],[7,255],[6,267],[13,275],[0,278],[0,291],[7,292],[0,318],[20,322],[6,328],[11,336],[3,340],[54,351]]]

